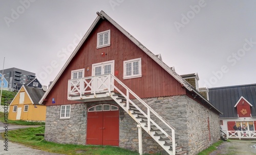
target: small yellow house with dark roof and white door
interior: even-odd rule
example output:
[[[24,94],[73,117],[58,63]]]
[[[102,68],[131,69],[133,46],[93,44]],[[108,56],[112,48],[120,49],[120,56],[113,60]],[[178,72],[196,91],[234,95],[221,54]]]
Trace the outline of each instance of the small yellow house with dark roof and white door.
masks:
[[[44,93],[40,88],[23,85],[10,104],[8,119],[45,121],[46,106],[38,104]]]

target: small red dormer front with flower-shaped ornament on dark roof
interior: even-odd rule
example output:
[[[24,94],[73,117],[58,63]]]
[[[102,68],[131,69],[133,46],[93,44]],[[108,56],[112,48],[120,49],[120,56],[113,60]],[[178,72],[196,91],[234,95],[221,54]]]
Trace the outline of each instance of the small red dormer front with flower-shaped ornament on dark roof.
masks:
[[[243,104],[244,102],[244,104]],[[250,105],[247,103],[247,101],[242,98],[238,105],[237,105],[237,112],[239,117],[251,117],[251,109]]]

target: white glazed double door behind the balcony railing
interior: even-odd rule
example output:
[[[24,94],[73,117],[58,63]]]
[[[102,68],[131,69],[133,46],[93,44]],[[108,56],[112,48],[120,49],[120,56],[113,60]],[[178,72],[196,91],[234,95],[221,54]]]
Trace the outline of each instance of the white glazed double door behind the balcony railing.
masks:
[[[114,81],[110,79],[110,76],[105,74],[113,74],[114,75],[114,64],[115,61],[106,61],[102,63],[93,64],[92,76],[96,76],[96,86],[94,87],[98,92],[108,91],[110,87],[110,83],[114,83]],[[113,88],[111,88],[112,91]]]

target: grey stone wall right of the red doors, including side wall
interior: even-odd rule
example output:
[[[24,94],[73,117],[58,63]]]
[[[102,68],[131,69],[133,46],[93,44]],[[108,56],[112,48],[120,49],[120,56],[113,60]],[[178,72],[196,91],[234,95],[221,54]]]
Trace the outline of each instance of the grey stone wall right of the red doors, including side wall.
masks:
[[[219,140],[219,115],[186,95],[143,100],[175,128],[176,142],[183,146],[183,150],[188,150],[187,154],[197,154]],[[138,150],[136,126],[137,123],[128,114],[120,112],[120,147]],[[142,133],[143,152],[166,154],[144,130]],[[171,135],[171,132],[167,133]]]

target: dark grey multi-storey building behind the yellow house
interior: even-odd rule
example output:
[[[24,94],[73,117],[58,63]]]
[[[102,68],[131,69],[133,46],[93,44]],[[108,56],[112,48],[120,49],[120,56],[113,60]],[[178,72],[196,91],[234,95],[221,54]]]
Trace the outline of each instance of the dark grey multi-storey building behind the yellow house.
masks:
[[[8,88],[14,90],[19,90],[22,85],[35,79],[35,73],[18,68],[4,69],[4,76],[9,83]]]

